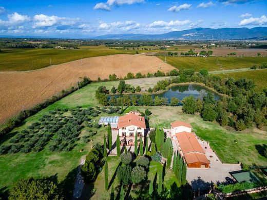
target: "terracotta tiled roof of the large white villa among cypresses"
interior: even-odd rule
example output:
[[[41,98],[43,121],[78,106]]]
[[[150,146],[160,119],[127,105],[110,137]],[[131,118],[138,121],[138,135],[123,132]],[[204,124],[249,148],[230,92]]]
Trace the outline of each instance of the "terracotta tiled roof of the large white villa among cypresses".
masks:
[[[119,118],[118,129],[131,125],[145,129],[145,118],[133,113],[129,113]]]

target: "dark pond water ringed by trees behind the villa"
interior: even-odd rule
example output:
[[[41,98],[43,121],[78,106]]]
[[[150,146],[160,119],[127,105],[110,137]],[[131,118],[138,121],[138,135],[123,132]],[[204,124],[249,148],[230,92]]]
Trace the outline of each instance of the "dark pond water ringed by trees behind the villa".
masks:
[[[158,97],[164,97],[168,99],[168,102],[170,102],[170,99],[172,97],[176,97],[178,98],[180,101],[182,101],[182,99],[184,99],[186,96],[190,96],[193,95],[195,98],[200,98],[202,99],[203,96],[206,95],[207,91],[210,91],[214,94],[214,99],[217,101],[218,99],[220,99],[220,95],[218,95],[217,93],[208,90],[207,88],[200,86],[200,85],[182,85],[182,86],[173,86],[170,87],[169,90],[160,93],[160,94],[151,94],[151,97],[154,99],[156,96]],[[119,97],[122,95],[115,95],[115,97]],[[141,96],[138,95],[137,96]],[[181,104],[180,104],[181,105]]]

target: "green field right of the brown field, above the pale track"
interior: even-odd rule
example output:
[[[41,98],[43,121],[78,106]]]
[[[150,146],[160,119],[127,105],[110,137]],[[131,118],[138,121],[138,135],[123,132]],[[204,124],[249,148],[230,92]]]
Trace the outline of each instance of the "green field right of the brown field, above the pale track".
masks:
[[[164,56],[159,58],[165,61]],[[267,57],[166,57],[166,61],[179,70],[192,68],[198,72],[203,68],[208,71],[250,68],[267,62]]]

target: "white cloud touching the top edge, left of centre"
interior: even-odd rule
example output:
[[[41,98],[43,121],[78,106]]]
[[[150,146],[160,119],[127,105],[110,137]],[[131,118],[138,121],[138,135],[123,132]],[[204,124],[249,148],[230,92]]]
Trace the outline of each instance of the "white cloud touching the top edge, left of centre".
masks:
[[[121,6],[124,4],[131,5],[136,3],[143,3],[145,0],[108,0],[106,3],[98,3],[94,6],[94,10],[106,10],[110,11],[111,6]]]

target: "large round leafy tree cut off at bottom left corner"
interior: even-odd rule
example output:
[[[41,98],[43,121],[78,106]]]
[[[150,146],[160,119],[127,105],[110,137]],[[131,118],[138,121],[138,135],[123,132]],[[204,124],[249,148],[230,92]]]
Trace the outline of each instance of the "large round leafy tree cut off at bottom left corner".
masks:
[[[20,179],[10,190],[8,199],[62,199],[57,183],[49,178]]]

